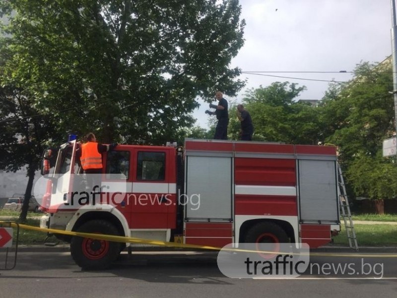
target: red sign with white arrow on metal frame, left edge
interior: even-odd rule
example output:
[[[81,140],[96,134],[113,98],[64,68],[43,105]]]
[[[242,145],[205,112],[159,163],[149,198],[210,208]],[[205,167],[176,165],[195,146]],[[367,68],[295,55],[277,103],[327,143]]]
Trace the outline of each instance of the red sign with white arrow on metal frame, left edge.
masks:
[[[16,227],[15,249],[13,250],[13,232]],[[16,255],[18,252],[18,238],[19,238],[19,224],[15,222],[2,222],[0,221],[0,270],[11,270],[16,265]],[[13,257],[12,257],[13,255]],[[11,265],[9,265],[11,264]]]

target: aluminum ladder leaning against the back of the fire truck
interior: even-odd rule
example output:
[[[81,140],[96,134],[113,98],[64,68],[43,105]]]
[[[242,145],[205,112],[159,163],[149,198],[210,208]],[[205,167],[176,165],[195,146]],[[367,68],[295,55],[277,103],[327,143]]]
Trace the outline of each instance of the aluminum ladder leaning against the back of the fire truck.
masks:
[[[337,164],[338,170],[338,196],[340,216],[343,219],[344,227],[346,229],[347,239],[349,240],[350,248],[358,251],[356,231],[354,230],[353,220],[351,219],[349,200],[347,199],[346,188],[343,181],[342,169],[339,163]]]

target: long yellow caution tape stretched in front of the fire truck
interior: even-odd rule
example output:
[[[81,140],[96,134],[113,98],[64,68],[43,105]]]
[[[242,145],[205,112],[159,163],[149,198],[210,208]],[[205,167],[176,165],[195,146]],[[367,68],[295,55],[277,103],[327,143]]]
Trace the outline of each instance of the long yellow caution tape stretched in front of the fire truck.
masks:
[[[0,221],[0,223],[6,223]],[[9,222],[8,222],[9,223]],[[12,227],[16,227],[17,224],[10,223]],[[303,253],[293,253],[293,252],[280,252],[280,251],[257,251],[257,250],[245,250],[245,249],[238,249],[238,248],[223,248],[223,247],[215,247],[215,246],[206,246],[206,245],[196,245],[196,244],[184,244],[178,242],[167,242],[167,241],[160,241],[160,240],[151,240],[151,239],[144,239],[144,238],[135,238],[135,237],[126,237],[126,236],[116,236],[116,235],[106,235],[106,234],[97,234],[97,233],[83,233],[83,232],[72,232],[72,231],[65,231],[59,230],[54,228],[41,228],[37,226],[27,225],[27,224],[19,224],[20,228],[40,231],[40,232],[48,232],[54,234],[63,234],[69,236],[77,236],[83,238],[91,238],[97,240],[108,240],[113,242],[122,242],[122,243],[139,243],[139,244],[149,244],[149,245],[158,245],[158,246],[167,246],[167,247],[180,247],[180,248],[196,248],[196,249],[207,249],[207,250],[224,250],[224,251],[234,251],[234,252],[255,252],[255,253],[266,253],[266,254],[300,254],[304,255]],[[336,254],[336,253],[308,253],[310,256],[323,256],[323,257],[382,257],[382,258],[396,258],[396,254],[357,254],[357,253],[344,253],[344,254]]]

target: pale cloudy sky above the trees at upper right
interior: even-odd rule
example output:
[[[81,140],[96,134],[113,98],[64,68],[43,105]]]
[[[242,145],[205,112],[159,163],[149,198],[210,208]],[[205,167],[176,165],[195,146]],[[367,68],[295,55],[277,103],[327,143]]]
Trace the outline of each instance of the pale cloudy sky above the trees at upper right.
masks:
[[[231,67],[267,73],[242,74],[247,84],[236,97],[224,95],[229,102],[241,102],[247,89],[275,81],[304,85],[297,99],[319,100],[327,81],[349,80],[361,61],[382,62],[392,54],[391,0],[240,0],[240,5],[245,44]],[[346,73],[331,73],[340,71]],[[199,103],[193,115],[207,128],[208,104]]]

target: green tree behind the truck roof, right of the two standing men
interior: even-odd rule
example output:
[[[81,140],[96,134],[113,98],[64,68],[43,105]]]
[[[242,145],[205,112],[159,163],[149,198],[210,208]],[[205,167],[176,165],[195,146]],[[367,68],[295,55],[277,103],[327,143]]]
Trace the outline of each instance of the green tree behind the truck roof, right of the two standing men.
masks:
[[[253,121],[253,139],[317,145],[321,133],[318,109],[296,101],[305,89],[295,83],[274,82],[267,87],[249,90],[243,102]],[[230,128],[235,136],[239,126],[232,122]]]

